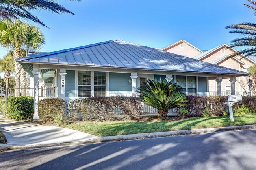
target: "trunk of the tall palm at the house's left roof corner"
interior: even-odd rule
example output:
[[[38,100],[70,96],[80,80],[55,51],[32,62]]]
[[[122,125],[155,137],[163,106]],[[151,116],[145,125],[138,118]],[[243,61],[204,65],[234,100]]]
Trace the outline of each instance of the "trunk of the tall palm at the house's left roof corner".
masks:
[[[20,95],[20,64],[15,60],[17,58],[22,57],[22,50],[20,48],[15,48],[13,50],[13,58],[14,58],[14,79],[15,79],[15,96]]]

